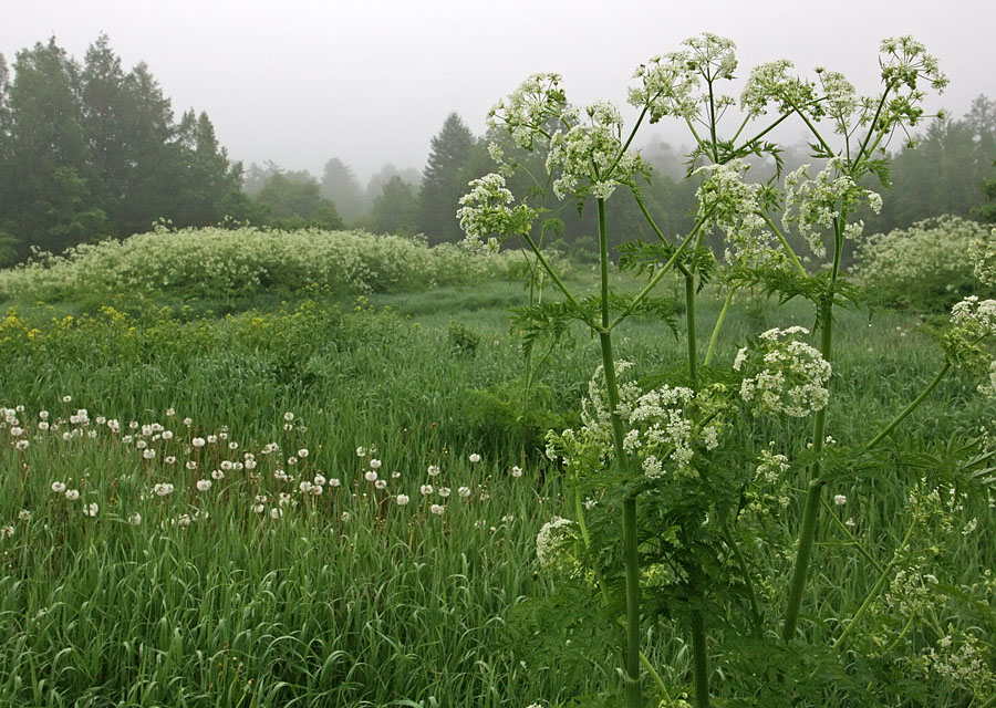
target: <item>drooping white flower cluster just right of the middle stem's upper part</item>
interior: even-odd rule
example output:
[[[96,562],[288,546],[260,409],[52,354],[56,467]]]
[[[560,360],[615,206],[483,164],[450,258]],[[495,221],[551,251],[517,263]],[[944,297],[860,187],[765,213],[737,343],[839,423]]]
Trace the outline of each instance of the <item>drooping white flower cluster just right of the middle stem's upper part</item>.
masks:
[[[772,233],[760,216],[761,185],[744,180],[749,167],[744,160],[734,159],[695,170],[707,175],[695,192],[698,218],[710,215],[709,220],[726,233],[726,260],[729,263],[754,264],[777,252],[772,248]]]

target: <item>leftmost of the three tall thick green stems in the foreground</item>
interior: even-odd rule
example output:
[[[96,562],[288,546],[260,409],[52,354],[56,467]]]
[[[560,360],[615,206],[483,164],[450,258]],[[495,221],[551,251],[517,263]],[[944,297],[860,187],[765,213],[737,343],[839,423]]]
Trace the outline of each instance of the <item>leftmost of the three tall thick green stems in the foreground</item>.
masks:
[[[615,461],[624,473],[630,460],[623,447],[622,419],[619,416],[619,383],[615,378],[615,360],[612,355],[612,333],[609,326],[609,235],[605,228],[605,201],[599,205],[599,251],[601,261],[602,326],[599,343],[602,348],[602,368],[605,376],[605,397],[612,421],[612,446]],[[623,561],[626,575],[626,645],[623,653],[626,708],[642,708],[643,691],[640,688],[640,561],[636,553],[636,497],[623,500]]]

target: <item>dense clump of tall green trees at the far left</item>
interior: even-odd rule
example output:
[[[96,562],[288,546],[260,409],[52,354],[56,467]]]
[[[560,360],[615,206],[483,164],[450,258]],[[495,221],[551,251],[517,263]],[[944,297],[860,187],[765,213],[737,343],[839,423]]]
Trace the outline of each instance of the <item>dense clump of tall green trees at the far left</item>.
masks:
[[[0,229],[51,252],[147,229],[159,218],[207,226],[226,216],[241,167],[208,116],[174,122],[145,64],[128,72],[106,35],[80,65],[55,44],[0,71]],[[229,216],[249,215],[232,209]]]

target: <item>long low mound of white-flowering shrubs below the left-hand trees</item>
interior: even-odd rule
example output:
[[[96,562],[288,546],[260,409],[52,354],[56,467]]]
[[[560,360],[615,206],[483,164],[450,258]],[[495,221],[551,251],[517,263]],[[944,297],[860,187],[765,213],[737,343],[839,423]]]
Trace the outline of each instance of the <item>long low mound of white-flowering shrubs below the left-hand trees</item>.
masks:
[[[454,244],[429,248],[363,231],[159,228],[2,271],[0,298],[132,291],[229,298],[309,284],[341,294],[421,290],[507,278],[521,259],[513,252],[489,259]]]

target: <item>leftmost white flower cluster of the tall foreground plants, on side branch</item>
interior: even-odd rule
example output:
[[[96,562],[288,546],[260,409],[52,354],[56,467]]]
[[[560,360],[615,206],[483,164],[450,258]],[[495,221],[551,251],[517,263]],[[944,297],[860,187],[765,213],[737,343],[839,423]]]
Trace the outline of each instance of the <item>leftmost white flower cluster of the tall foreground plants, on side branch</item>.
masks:
[[[528,207],[512,208],[516,198],[505,186],[505,177],[491,173],[470,183],[470,191],[460,197],[457,218],[467,235],[465,243],[479,249],[487,244],[497,251],[512,233],[529,231],[536,216]]]

